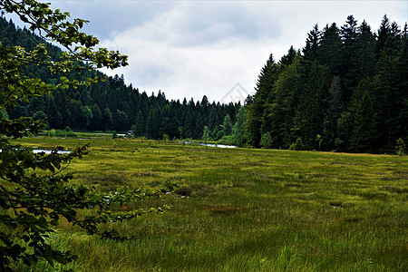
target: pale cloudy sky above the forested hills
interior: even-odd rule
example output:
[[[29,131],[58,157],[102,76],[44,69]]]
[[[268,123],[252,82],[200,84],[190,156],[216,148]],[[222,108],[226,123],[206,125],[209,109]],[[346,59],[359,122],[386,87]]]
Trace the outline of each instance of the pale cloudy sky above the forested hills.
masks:
[[[348,15],[376,31],[386,14],[403,27],[408,1],[139,1],[48,0],[90,23],[87,34],[102,47],[129,56],[125,83],[170,100],[243,101],[272,53],[276,61],[291,45],[302,49],[315,24],[345,24]]]

